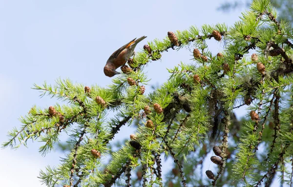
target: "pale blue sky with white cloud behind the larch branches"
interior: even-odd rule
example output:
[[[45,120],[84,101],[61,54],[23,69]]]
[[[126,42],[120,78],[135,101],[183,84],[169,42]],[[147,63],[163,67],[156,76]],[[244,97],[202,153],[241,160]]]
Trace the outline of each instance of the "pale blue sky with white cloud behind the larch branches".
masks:
[[[216,11],[225,0],[0,0],[0,142],[18,118],[32,105],[44,108],[56,100],[39,98],[31,89],[33,83],[54,84],[59,77],[87,85],[106,86],[103,67],[108,57],[133,38],[147,36],[147,41],[163,39],[167,31],[187,29],[191,25],[225,22],[229,26],[239,20],[241,11],[229,14]],[[219,52],[223,43],[212,42],[210,49]],[[191,59],[188,49],[163,53],[162,61],[145,68],[150,85],[167,80],[166,68]],[[150,89],[150,87],[146,87]],[[130,132],[120,133],[119,138]],[[123,136],[122,134],[125,134]],[[63,153],[56,151],[42,157],[38,147],[29,143],[16,151],[0,149],[1,185],[40,187],[40,169],[57,166]],[[4,169],[5,168],[5,169]]]

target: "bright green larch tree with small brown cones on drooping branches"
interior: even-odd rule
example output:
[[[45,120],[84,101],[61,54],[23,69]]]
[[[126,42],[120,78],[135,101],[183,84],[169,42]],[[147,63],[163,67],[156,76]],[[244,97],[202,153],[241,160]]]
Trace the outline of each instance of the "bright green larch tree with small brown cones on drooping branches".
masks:
[[[40,172],[48,187],[259,187],[275,178],[293,186],[291,25],[277,20],[270,0],[253,0],[230,27],[190,26],[148,42],[106,88],[61,79],[35,84],[42,96],[67,104],[33,106],[3,146],[40,141],[45,156],[67,135],[70,153]],[[210,40],[223,42],[223,49],[211,52]],[[146,90],[146,64],[185,48],[192,48],[192,60],[168,69],[166,83]],[[234,114],[239,107],[247,111],[242,121]],[[113,151],[109,142],[123,125],[136,133]],[[174,161],[166,176],[164,158]],[[207,161],[216,169],[205,169]]]

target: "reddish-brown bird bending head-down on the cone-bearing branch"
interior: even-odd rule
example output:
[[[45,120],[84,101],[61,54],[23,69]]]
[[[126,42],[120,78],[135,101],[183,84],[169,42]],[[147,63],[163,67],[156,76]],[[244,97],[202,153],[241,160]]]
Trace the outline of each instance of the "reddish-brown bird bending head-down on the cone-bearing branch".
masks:
[[[135,38],[116,50],[106,62],[104,67],[105,76],[113,77],[114,75],[120,74],[116,71],[116,69],[122,65],[125,65],[128,59],[134,55],[134,48],[136,45],[145,38],[146,36],[142,36],[137,40]]]

